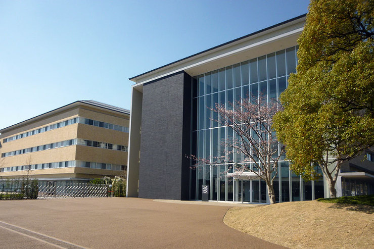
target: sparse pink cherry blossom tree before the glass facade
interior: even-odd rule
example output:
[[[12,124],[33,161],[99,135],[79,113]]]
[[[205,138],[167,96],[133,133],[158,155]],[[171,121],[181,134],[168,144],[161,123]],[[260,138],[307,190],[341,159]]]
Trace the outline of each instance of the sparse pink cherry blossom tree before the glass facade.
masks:
[[[218,114],[218,120],[214,121],[221,126],[230,127],[235,135],[221,141],[222,145],[228,148],[225,156],[192,156],[192,159],[196,165],[228,164],[236,176],[253,172],[255,177],[266,182],[270,204],[274,204],[273,181],[278,173],[278,161],[285,152],[272,129],[273,116],[280,109],[278,102],[272,100],[267,103],[266,96],[262,95],[242,98],[236,103],[230,103],[229,107],[217,104],[210,109]],[[232,154],[235,153],[244,155],[242,163],[232,160]]]

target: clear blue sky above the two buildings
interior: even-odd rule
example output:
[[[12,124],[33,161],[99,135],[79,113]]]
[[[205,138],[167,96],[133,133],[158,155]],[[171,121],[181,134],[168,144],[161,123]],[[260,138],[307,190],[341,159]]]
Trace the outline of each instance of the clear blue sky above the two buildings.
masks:
[[[130,109],[128,78],[304,14],[308,4],[0,0],[0,128],[80,99]]]

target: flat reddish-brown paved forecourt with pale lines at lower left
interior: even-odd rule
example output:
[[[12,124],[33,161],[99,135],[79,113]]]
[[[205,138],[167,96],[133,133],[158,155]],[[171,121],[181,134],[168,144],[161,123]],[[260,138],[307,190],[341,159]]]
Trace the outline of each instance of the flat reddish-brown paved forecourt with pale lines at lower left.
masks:
[[[0,248],[284,248],[226,226],[229,206],[189,203],[0,201]]]

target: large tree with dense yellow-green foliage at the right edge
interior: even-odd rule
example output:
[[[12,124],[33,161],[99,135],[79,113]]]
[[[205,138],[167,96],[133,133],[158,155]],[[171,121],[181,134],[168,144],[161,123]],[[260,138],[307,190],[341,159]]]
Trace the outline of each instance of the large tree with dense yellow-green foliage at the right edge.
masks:
[[[372,0],[311,1],[274,117],[291,169],[310,180],[317,164],[333,197],[342,163],[374,144],[373,14]]]

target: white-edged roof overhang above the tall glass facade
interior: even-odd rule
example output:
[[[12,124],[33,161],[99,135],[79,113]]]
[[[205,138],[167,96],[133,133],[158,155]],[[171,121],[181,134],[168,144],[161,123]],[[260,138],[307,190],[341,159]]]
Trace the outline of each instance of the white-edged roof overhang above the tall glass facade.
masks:
[[[141,89],[141,85],[147,82],[180,71],[184,71],[191,76],[197,76],[295,46],[297,45],[297,38],[304,29],[305,19],[306,14],[140,74],[130,78],[130,80],[135,82],[133,87]]]

